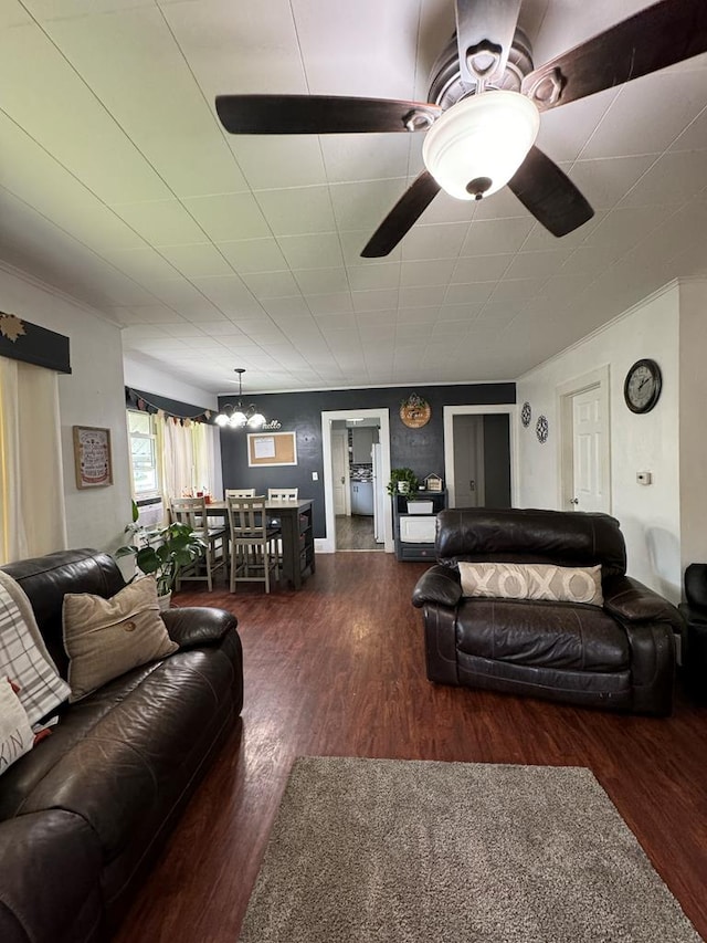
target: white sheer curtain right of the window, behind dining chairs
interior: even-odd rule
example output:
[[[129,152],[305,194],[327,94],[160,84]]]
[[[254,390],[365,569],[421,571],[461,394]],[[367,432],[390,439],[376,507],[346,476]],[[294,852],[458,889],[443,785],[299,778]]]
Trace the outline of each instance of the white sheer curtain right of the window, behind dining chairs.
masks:
[[[161,419],[161,421],[159,421]],[[215,426],[184,421],[160,416],[157,422],[157,442],[162,458],[162,489],[165,497],[181,497],[184,493],[220,491],[218,470],[218,438]]]

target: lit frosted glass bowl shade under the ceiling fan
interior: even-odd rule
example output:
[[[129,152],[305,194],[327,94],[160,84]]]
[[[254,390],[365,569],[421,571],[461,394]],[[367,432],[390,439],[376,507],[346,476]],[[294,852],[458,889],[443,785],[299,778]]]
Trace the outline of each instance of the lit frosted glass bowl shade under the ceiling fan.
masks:
[[[488,197],[520,167],[539,127],[538,109],[519,92],[471,95],[432,125],[424,137],[422,159],[451,197]]]

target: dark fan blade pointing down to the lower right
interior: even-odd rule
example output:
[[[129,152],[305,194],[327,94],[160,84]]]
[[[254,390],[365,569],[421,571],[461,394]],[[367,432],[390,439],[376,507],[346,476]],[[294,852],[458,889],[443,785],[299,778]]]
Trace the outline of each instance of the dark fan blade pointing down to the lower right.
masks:
[[[567,174],[537,147],[530,148],[508,186],[552,235],[567,235],[594,216]]]

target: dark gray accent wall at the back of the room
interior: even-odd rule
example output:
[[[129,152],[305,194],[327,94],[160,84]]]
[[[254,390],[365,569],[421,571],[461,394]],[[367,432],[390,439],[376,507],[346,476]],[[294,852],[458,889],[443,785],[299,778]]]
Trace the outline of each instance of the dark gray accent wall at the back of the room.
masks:
[[[409,429],[400,420],[400,405],[411,392],[424,397],[432,417],[422,429]],[[233,397],[220,397],[219,408]],[[388,409],[390,411],[390,459],[392,468],[409,467],[419,478],[431,472],[444,476],[444,406],[514,404],[515,384],[469,384],[468,386],[389,387],[325,390],[315,392],[263,394],[247,397],[267,420],[277,419],[281,431],[297,432],[297,464],[249,468],[244,429],[221,430],[224,488],[298,488],[302,497],[314,500],[314,532],[324,537],[324,457],[321,412],[334,410]],[[318,481],[312,480],[317,472]]]

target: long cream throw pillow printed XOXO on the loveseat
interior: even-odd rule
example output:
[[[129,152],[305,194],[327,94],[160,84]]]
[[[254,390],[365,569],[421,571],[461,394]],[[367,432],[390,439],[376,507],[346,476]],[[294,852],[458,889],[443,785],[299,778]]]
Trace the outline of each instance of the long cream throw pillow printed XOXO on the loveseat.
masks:
[[[601,566],[460,562],[464,596],[602,606]]]

